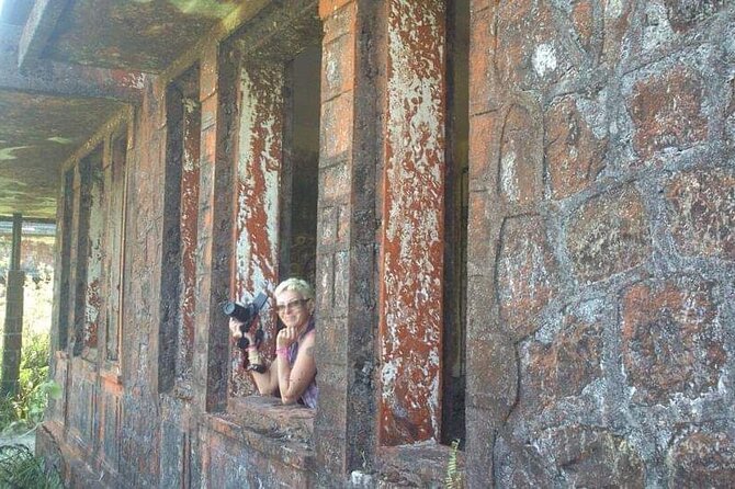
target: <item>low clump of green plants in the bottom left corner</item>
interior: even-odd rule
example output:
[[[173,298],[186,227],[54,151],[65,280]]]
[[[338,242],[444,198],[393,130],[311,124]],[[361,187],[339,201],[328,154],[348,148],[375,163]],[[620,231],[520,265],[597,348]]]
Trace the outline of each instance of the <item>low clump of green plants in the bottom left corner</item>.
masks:
[[[16,489],[64,489],[55,468],[47,469],[25,445],[0,446],[0,487]]]

